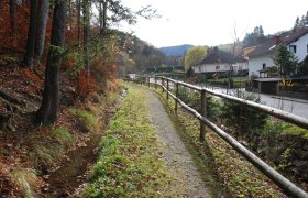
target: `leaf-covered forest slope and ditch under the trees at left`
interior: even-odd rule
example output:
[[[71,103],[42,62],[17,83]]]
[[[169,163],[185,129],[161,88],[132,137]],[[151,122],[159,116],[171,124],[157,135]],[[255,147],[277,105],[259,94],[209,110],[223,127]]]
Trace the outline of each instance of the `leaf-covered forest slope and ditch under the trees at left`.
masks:
[[[117,82],[85,99],[77,92],[77,77],[62,68],[58,121],[43,127],[35,123],[35,111],[44,65],[32,70],[20,59],[0,54],[0,197],[69,196],[96,161],[97,144],[119,100]]]

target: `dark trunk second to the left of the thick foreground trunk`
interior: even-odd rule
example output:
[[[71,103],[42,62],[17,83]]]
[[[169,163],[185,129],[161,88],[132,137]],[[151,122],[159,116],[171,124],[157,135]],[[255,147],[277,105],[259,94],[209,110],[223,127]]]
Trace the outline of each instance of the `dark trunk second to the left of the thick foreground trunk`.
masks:
[[[36,22],[37,22],[37,2],[36,0],[30,0],[30,22],[26,40],[26,52],[24,55],[23,63],[33,69],[33,57],[34,57],[34,46],[35,46],[35,33],[36,33]]]

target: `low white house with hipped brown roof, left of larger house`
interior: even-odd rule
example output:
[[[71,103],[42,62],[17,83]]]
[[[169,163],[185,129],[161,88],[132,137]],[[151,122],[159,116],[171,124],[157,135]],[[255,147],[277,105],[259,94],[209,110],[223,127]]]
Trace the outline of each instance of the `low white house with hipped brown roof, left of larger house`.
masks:
[[[223,74],[232,70],[237,74],[238,72],[248,69],[248,61],[215,48],[200,63],[194,65],[193,69],[195,73]]]

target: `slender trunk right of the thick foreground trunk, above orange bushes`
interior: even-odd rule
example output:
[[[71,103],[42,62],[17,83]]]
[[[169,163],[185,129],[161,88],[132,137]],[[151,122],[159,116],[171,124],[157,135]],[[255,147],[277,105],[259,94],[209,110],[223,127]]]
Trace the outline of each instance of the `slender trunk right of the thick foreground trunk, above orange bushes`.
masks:
[[[85,52],[84,58],[85,58],[87,79],[90,76],[89,51],[88,51],[89,25],[90,25],[90,6],[88,0],[84,0],[84,52]]]

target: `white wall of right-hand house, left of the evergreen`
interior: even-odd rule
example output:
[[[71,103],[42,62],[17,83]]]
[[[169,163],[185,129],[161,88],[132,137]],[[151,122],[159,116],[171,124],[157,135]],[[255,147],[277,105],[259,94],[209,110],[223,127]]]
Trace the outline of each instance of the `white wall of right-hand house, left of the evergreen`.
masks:
[[[268,56],[250,57],[249,76],[252,76],[252,75],[260,76],[258,70],[261,70],[263,68],[264,63],[266,64],[266,67],[272,67],[275,65],[272,57],[268,57]]]

